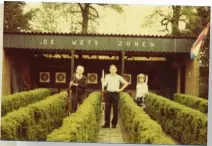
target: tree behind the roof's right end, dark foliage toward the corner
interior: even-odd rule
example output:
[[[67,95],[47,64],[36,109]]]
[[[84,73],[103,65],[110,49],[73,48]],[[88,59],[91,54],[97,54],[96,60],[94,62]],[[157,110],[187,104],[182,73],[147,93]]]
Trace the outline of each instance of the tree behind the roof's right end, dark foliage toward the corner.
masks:
[[[164,10],[167,8],[166,10]],[[150,27],[158,21],[168,35],[189,35],[197,37],[210,20],[210,7],[203,6],[157,6],[153,13],[145,17],[141,27]],[[185,29],[180,30],[179,25]],[[168,27],[170,26],[170,28]]]

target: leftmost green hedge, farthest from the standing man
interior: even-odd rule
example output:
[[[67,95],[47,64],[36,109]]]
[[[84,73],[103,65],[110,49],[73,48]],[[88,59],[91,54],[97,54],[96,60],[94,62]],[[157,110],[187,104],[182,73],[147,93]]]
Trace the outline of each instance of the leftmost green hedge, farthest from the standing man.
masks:
[[[28,104],[43,100],[50,95],[51,91],[49,89],[35,89],[3,96],[1,116],[3,117],[7,113],[17,110],[20,107],[25,107]]]

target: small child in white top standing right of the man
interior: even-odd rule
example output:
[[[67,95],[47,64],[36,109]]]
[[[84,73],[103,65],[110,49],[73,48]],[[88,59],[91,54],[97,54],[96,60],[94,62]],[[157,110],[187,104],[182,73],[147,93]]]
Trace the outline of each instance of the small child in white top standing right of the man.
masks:
[[[144,98],[148,94],[148,76],[145,76],[144,74],[138,75],[138,83],[136,85],[136,97],[135,101],[139,106],[144,106]]]

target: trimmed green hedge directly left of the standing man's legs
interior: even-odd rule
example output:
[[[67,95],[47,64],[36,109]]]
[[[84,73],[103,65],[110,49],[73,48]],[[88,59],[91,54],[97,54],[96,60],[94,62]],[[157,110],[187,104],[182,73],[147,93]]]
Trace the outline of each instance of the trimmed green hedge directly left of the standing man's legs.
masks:
[[[89,94],[76,113],[66,117],[63,125],[47,137],[47,141],[94,142],[98,137],[101,116],[101,94]]]

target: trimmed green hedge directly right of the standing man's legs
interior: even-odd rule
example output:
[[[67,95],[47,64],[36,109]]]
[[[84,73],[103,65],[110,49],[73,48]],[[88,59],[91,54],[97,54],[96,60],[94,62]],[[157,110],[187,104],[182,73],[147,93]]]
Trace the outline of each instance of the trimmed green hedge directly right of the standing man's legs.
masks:
[[[130,143],[176,144],[163,133],[156,121],[153,121],[141,107],[136,105],[128,93],[120,94],[119,113]]]

